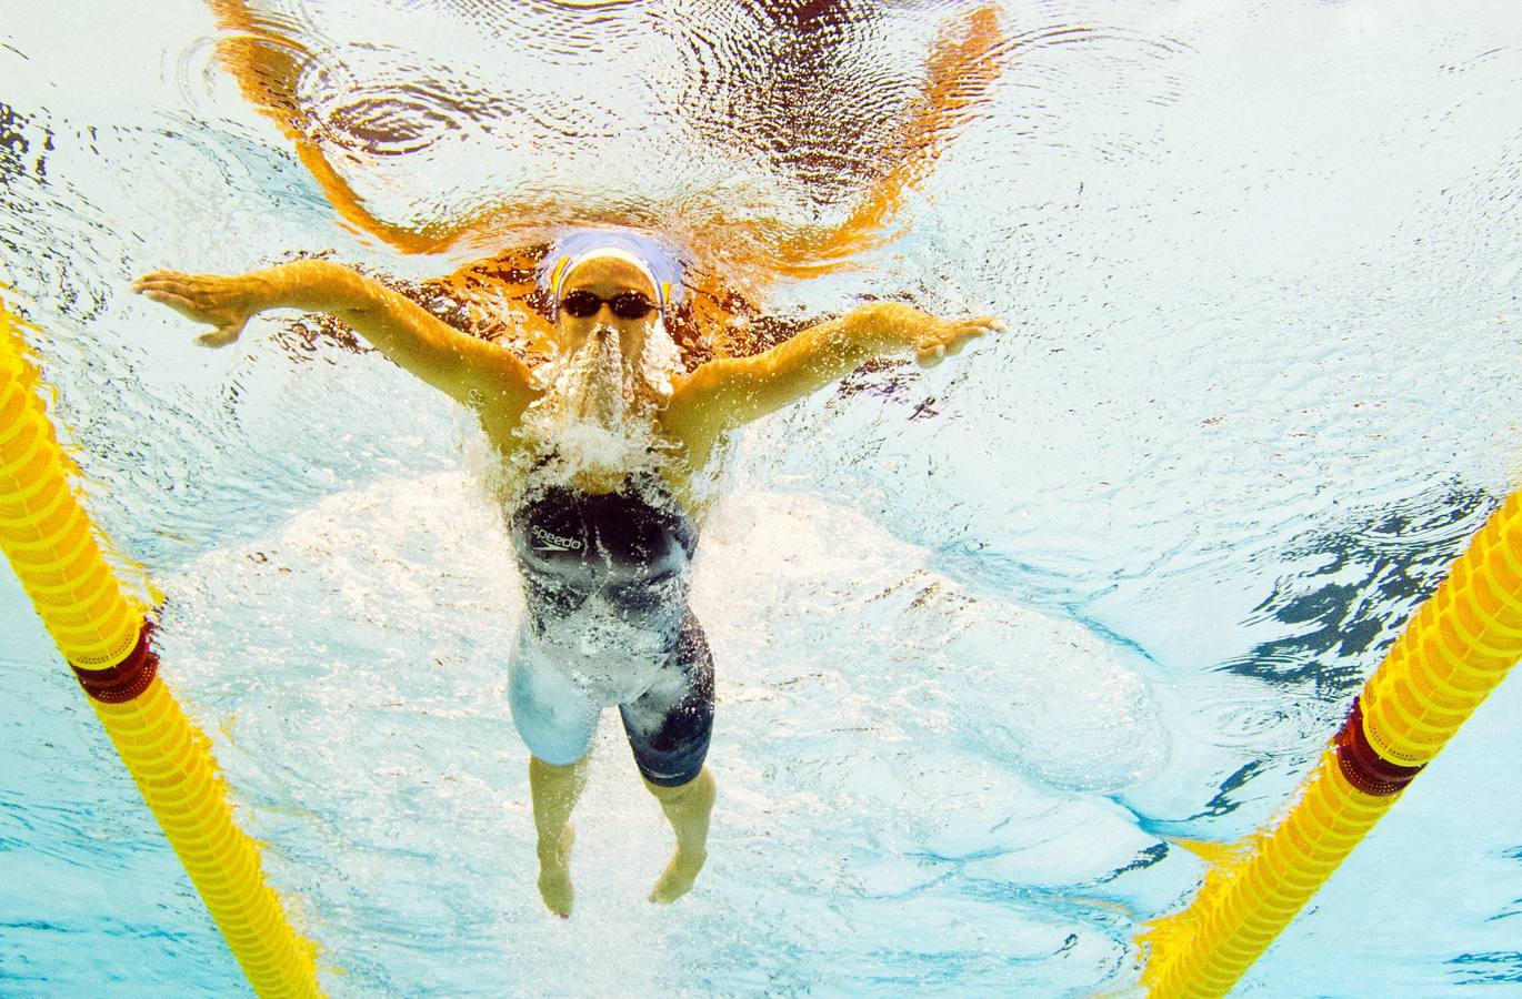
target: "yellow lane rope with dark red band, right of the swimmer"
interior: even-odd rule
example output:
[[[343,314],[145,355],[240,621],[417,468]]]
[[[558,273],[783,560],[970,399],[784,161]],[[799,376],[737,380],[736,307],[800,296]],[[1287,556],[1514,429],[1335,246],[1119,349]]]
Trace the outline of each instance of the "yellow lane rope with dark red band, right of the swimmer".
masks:
[[[1406,625],[1289,813],[1233,848],[1189,908],[1142,934],[1148,993],[1230,991],[1517,658],[1522,493]]]

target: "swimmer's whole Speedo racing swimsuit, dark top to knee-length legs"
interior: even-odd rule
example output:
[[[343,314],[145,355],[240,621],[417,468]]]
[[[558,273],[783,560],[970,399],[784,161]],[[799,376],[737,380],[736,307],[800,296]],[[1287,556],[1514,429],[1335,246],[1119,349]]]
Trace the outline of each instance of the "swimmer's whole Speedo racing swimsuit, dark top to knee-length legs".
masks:
[[[714,661],[686,604],[691,519],[647,476],[603,496],[551,487],[511,522],[528,617],[510,702],[530,751],[575,763],[618,704],[645,780],[689,782],[714,724]]]

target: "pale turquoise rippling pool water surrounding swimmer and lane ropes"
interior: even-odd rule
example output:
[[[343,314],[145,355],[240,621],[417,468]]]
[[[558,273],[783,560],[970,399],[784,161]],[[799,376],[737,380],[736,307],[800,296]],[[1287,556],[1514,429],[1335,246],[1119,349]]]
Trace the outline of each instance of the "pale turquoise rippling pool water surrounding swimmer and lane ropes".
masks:
[[[202,6],[12,6],[0,281],[330,994],[1128,994],[1131,937],[1201,874],[1170,838],[1278,812],[1517,480],[1510,5],[1008,5],[1020,44],[907,233],[764,304],[909,295],[1011,330],[737,442],[694,588],[720,671],[709,868],[644,903],[670,833],[609,715],[562,923],[533,886],[517,584],[466,417],[292,315],[202,351],[125,293],[297,251],[460,260],[338,224]],[[277,20],[317,56],[317,120],[365,123],[342,169],[382,217],[513,196],[788,227],[845,217],[968,9],[814,6]],[[242,988],[0,590],[0,993]],[[1243,994],[1522,988],[1519,712],[1513,680]]]

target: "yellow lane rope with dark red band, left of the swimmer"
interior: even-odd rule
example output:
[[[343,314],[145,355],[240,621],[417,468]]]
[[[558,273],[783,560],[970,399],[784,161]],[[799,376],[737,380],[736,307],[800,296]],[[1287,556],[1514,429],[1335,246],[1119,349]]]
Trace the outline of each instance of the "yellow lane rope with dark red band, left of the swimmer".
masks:
[[[21,321],[0,301],[0,549],[260,996],[318,996],[315,947],[286,921],[233,823],[209,739],[158,678],[152,625],[75,497]]]

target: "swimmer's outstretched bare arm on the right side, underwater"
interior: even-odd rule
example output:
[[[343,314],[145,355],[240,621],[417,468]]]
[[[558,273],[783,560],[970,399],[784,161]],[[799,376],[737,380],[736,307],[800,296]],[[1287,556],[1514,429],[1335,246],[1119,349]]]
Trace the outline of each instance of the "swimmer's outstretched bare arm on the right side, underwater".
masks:
[[[868,360],[913,353],[922,366],[939,363],[976,336],[1003,328],[994,316],[938,319],[900,303],[871,303],[811,325],[753,357],[723,357],[676,386],[667,421],[691,433],[721,433],[759,420]]]

